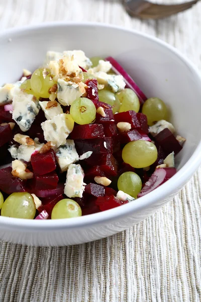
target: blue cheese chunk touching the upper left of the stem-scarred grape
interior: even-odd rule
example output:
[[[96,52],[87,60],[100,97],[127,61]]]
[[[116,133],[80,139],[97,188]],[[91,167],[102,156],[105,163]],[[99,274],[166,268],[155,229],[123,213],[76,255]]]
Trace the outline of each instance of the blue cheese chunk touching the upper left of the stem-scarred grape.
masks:
[[[83,94],[80,85],[75,84],[71,81],[66,82],[62,79],[58,79],[57,87],[58,87],[57,99],[59,103],[61,103],[61,105],[64,106],[71,105],[74,100],[81,97]]]

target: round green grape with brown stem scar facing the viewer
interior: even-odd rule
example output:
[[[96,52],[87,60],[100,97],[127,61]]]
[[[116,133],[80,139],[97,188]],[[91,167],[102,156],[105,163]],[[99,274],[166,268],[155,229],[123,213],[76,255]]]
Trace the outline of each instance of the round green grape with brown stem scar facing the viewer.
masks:
[[[96,109],[87,98],[78,98],[70,106],[70,115],[79,125],[90,124],[95,119]]]

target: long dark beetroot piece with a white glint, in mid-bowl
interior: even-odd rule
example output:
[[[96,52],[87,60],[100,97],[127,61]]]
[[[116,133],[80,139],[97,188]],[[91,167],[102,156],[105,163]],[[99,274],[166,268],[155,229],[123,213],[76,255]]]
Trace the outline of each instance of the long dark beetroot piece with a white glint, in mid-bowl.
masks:
[[[116,137],[77,139],[74,142],[79,155],[88,151],[94,153],[114,153],[120,150],[120,143]]]

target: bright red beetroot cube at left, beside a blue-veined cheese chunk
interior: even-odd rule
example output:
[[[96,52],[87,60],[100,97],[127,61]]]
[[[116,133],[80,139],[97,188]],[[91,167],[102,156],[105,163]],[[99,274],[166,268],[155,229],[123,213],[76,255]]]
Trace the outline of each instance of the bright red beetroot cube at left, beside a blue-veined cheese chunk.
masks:
[[[36,153],[31,156],[31,164],[35,175],[44,175],[56,169],[56,160],[54,150],[40,154]]]

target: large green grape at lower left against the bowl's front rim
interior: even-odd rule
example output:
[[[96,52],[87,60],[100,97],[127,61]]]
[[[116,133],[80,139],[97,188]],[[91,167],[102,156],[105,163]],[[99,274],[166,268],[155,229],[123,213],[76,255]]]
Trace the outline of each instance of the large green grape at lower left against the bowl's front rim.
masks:
[[[33,219],[36,214],[34,199],[27,192],[12,193],[2,206],[2,216]]]

